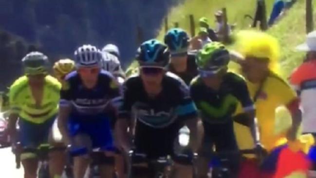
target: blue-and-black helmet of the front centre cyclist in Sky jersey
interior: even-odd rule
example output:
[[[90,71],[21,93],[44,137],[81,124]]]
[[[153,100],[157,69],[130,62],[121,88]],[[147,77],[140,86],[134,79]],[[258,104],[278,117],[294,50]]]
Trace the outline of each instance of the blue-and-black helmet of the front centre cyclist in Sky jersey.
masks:
[[[136,60],[141,67],[165,68],[169,64],[169,59],[168,47],[155,39],[143,42],[137,50]]]

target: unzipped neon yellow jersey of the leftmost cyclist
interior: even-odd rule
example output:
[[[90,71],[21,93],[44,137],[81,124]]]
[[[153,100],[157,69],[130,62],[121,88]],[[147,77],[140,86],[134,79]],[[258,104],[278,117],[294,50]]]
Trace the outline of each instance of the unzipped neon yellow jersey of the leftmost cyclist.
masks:
[[[58,111],[61,84],[54,77],[45,77],[43,98],[40,106],[36,106],[26,76],[17,79],[10,87],[9,103],[12,113],[19,114],[21,119],[33,123],[43,123],[56,115]]]

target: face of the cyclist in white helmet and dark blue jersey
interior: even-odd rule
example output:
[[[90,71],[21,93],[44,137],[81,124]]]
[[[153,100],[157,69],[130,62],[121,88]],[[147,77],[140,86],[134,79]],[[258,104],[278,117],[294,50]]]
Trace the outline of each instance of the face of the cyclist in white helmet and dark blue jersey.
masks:
[[[78,69],[78,74],[87,88],[93,88],[100,73],[99,67],[85,67]]]

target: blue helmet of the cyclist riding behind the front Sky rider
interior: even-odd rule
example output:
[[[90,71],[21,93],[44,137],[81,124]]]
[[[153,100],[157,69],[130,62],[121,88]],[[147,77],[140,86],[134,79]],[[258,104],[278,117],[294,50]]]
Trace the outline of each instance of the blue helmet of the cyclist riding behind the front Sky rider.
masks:
[[[186,54],[189,46],[189,37],[181,28],[173,28],[165,35],[165,43],[170,49],[171,55]]]

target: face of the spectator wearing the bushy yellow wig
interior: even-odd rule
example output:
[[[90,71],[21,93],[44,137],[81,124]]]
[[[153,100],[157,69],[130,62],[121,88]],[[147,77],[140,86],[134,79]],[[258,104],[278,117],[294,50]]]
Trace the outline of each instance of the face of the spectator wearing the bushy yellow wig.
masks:
[[[269,72],[269,59],[246,57],[242,62],[242,72],[251,82],[260,82]]]

